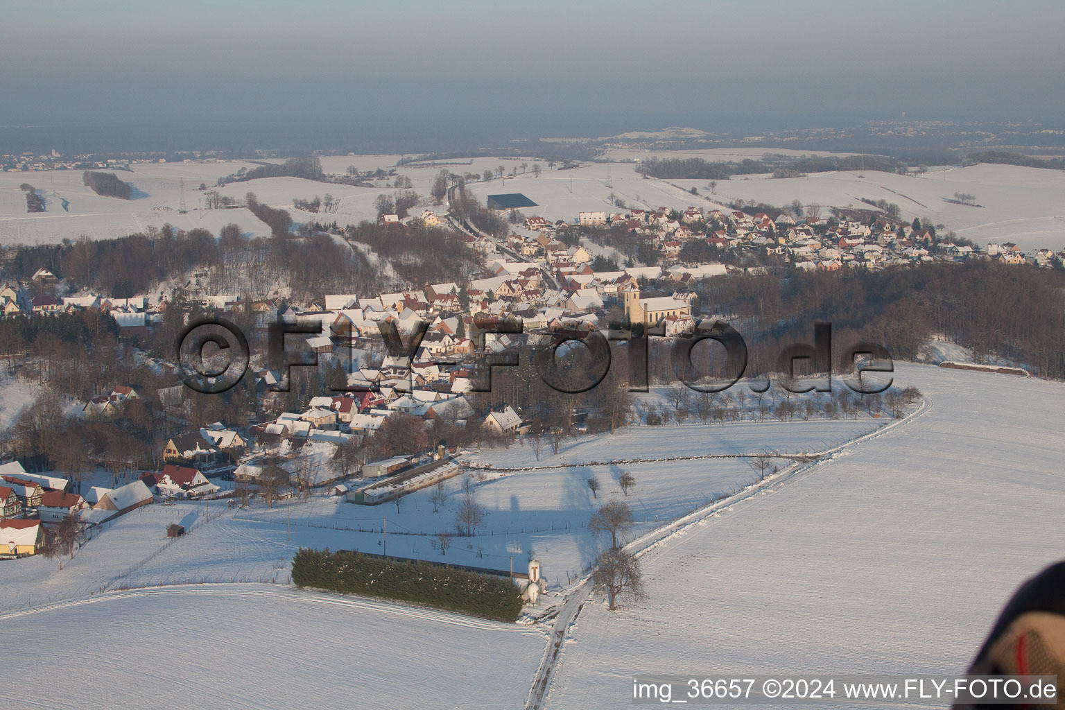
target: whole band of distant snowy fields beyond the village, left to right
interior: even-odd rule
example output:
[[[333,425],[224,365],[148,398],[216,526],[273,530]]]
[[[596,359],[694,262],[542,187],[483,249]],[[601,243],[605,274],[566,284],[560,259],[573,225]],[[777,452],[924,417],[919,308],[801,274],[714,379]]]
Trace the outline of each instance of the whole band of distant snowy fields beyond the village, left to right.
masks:
[[[742,160],[760,158],[760,149],[723,149],[643,153],[615,151],[612,160],[646,159],[652,154],[707,160]],[[770,151],[788,152],[788,151]],[[798,151],[792,151],[798,154]],[[348,165],[361,170],[386,170],[395,166],[399,155],[337,155],[322,159],[326,172],[344,172]],[[505,172],[522,163],[531,169],[534,163],[543,168],[539,178],[531,172],[517,178],[472,183],[473,192],[485,198],[497,193],[524,193],[538,207],[526,214],[572,220],[578,212],[618,208],[611,202],[621,199],[629,208],[684,208],[695,204],[703,209],[722,207],[735,199],[789,204],[829,207],[865,207],[861,198],[886,199],[897,203],[907,220],[915,216],[946,225],[948,230],[978,244],[1015,242],[1025,249],[1065,247],[1065,172],[1012,165],[973,165],[965,168],[933,168],[917,177],[887,172],[822,172],[807,178],[772,180],[768,176],[736,176],[719,180],[710,194],[705,180],[644,179],[636,172],[634,163],[589,163],[581,167],[551,169],[543,161],[512,158],[477,158],[473,160],[414,163],[399,166],[398,172],[410,178],[413,189],[423,197],[419,209],[430,207],[429,186],[441,166],[456,174],[482,174],[503,165]],[[249,234],[265,235],[268,229],[244,209],[197,209],[202,194],[200,183],[210,188],[219,177],[255,167],[247,162],[165,163],[133,165],[131,171],[118,171],[121,180],[137,191],[133,200],[99,197],[81,183],[80,170],[44,170],[33,172],[0,172],[0,244],[54,243],[87,234],[93,238],[121,236],[142,231],[149,226],[166,222],[182,229],[202,227],[217,233],[226,224],[236,222]],[[180,214],[181,181],[184,181],[186,214]],[[46,196],[47,211],[27,214],[26,199],[19,185],[23,182],[37,187]],[[695,187],[698,196],[687,191]],[[384,186],[351,187],[296,178],[268,178],[250,182],[230,183],[219,188],[223,195],[243,199],[253,192],[261,202],[288,208],[297,222],[309,219],[341,225],[374,219],[374,201],[380,194],[395,191]],[[976,196],[984,207],[966,207],[944,201],[954,193]],[[332,213],[312,214],[292,208],[293,199],[313,199],[330,194],[338,198]],[[65,202],[65,207],[64,207]]]

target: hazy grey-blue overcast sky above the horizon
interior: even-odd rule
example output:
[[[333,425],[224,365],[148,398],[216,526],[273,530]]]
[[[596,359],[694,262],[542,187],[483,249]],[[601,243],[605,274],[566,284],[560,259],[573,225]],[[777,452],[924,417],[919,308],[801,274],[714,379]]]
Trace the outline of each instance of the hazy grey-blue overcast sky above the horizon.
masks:
[[[0,125],[1065,116],[1065,2],[4,2]],[[638,118],[640,117],[640,118]],[[690,121],[689,121],[690,122]]]

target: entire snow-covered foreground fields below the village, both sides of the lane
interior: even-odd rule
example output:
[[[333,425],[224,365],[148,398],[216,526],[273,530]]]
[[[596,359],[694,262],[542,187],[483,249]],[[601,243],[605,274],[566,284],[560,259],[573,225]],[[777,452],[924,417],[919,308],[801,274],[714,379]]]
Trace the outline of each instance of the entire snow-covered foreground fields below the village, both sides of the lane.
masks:
[[[1056,430],[1065,385],[903,363],[896,375],[924,394],[919,414],[697,513],[646,547],[646,601],[615,613],[599,598],[586,605],[546,707],[627,704],[634,674],[963,670],[1013,590],[1065,546],[1056,524],[1065,505]],[[557,457],[541,451],[539,462],[529,447],[486,449],[478,461],[495,466],[575,465],[489,473],[475,495],[496,534],[475,539],[485,546],[479,561],[524,561],[532,548],[553,585],[560,577],[566,587],[563,572],[602,544],[571,523],[622,496],[621,469],[637,478],[627,499],[637,532],[754,478],[738,459],[587,465],[604,453],[796,452],[852,441],[876,424],[630,427],[569,441]],[[603,483],[597,498],[586,485],[590,475]],[[453,501],[456,488],[452,481]],[[30,654],[35,666],[75,659],[70,673],[32,686],[32,697],[49,707],[144,705],[177,684],[191,707],[521,707],[544,649],[541,631],[285,584],[301,545],[377,551],[379,533],[344,528],[370,530],[386,515],[389,552],[437,555],[426,536],[404,534],[450,527],[450,501],[433,513],[427,495],[408,496],[398,512],[335,498],[269,510],[213,503],[211,522],[202,502],[135,511],[62,571],[43,558],[0,563],[0,643]],[[168,542],[164,528],[175,522],[190,532]],[[504,525],[526,532],[501,533]],[[531,531],[545,525],[556,530]],[[447,559],[476,554],[459,540]],[[228,583],[260,580],[276,583]],[[31,635],[33,644],[20,641]],[[159,649],[166,660],[128,673]],[[494,671],[501,662],[506,673]],[[192,678],[189,667],[203,673]],[[30,688],[4,686],[0,698],[26,705]]]

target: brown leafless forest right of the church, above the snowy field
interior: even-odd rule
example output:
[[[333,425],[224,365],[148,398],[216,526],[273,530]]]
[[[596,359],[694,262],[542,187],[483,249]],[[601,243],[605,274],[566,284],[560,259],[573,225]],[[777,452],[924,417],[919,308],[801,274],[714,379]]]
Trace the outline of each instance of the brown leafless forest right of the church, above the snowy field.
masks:
[[[812,342],[814,320],[833,327],[833,349],[868,341],[914,360],[933,333],[1065,379],[1065,274],[989,262],[927,264],[883,271],[736,276],[699,284],[711,312],[742,316],[752,371],[776,353]],[[739,328],[739,326],[737,326]]]

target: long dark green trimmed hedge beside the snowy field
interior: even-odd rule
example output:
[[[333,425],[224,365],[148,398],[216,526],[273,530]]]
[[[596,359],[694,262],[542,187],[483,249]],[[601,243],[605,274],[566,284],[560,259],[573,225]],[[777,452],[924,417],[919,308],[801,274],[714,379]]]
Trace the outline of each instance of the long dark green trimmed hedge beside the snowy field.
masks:
[[[292,561],[297,587],[412,601],[513,622],[522,611],[514,583],[456,567],[387,560],[358,552],[300,549]]]

